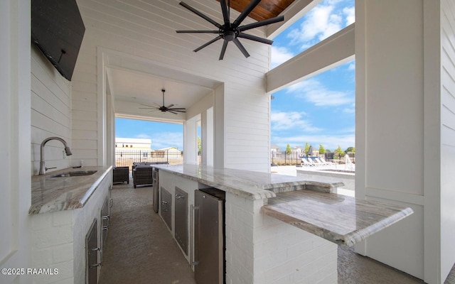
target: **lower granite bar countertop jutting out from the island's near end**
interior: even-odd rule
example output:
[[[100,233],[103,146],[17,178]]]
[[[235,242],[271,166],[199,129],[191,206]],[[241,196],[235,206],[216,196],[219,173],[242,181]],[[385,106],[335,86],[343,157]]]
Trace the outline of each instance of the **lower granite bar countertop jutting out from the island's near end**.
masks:
[[[312,190],[278,193],[261,210],[341,246],[353,246],[413,213],[409,207]]]

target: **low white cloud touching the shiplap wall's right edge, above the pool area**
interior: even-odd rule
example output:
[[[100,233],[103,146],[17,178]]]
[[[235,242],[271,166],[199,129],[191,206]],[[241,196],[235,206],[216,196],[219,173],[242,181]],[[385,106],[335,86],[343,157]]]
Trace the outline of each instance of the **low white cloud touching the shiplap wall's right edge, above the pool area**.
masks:
[[[321,131],[303,119],[304,112],[297,111],[272,111],[272,131],[298,129],[299,131]]]

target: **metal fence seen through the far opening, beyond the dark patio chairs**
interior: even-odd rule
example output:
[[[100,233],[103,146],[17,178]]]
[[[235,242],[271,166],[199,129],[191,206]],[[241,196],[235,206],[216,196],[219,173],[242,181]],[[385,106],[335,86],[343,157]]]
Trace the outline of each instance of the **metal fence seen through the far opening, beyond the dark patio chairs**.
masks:
[[[132,169],[133,163],[140,162],[167,162],[171,165],[183,164],[183,153],[168,153],[157,151],[117,151],[115,153],[116,167],[129,167]]]

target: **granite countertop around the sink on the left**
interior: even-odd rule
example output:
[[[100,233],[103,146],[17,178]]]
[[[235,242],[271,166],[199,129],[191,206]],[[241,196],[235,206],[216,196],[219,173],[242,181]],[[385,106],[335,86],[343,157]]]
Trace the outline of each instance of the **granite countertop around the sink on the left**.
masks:
[[[53,178],[55,175],[62,173],[95,170],[97,172],[92,175]],[[33,175],[31,177],[31,207],[28,209],[28,214],[41,214],[83,207],[110,170],[112,170],[112,166],[65,168],[55,170],[46,175]]]

